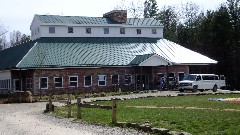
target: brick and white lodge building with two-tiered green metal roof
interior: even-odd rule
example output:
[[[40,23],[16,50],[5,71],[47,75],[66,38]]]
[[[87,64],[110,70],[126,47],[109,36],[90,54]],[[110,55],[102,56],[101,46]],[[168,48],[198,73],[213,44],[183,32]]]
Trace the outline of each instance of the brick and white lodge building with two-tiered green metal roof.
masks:
[[[157,89],[189,73],[213,73],[217,61],[163,38],[152,18],[35,15],[31,41],[0,52],[0,94]],[[139,87],[140,86],[140,87]],[[42,94],[42,93],[41,93]]]

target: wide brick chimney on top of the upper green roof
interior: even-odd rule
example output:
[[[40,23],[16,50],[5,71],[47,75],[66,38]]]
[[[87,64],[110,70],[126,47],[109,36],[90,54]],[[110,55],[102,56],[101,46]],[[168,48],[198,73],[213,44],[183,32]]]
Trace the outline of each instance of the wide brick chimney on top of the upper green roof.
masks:
[[[114,22],[126,23],[127,22],[127,10],[112,10],[106,14],[103,14],[103,17],[109,18]]]

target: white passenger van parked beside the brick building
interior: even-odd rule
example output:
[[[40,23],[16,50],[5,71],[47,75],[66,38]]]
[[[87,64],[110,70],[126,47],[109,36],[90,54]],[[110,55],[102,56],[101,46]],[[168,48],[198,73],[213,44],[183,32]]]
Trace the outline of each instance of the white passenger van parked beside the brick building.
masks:
[[[215,74],[190,74],[179,81],[178,89],[180,92],[184,90],[192,90],[196,92],[197,90],[204,91],[212,89],[216,92],[218,88],[225,87],[224,77],[219,77]]]

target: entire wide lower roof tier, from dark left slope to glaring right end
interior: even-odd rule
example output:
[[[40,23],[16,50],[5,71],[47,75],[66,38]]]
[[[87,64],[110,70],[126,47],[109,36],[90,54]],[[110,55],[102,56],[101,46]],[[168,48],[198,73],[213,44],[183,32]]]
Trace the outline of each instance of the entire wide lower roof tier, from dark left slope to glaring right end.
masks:
[[[45,37],[1,51],[0,68],[131,66],[155,54],[173,64],[217,63],[166,39]]]

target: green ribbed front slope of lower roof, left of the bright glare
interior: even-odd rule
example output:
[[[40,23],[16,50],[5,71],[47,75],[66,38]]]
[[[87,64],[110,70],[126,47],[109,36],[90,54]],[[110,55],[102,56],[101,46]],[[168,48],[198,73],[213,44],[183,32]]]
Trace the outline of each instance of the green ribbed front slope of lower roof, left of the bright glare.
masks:
[[[18,64],[22,67],[78,67],[128,65],[151,38],[41,38]]]

